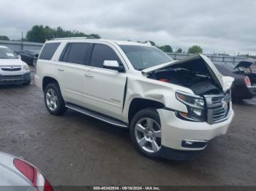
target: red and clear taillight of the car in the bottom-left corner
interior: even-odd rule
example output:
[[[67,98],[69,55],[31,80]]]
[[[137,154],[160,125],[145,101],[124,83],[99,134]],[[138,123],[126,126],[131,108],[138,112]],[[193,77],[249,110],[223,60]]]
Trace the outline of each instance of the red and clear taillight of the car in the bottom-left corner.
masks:
[[[53,187],[37,168],[34,168],[34,166],[18,158],[13,160],[13,164],[24,176],[26,176],[26,178],[29,179],[31,184],[33,184],[38,191],[53,191]]]

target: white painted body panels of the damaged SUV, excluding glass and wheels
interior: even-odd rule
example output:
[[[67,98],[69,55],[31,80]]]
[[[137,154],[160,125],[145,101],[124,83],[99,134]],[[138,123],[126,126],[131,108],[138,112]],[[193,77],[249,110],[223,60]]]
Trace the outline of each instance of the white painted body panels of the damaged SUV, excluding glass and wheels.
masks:
[[[158,101],[168,108],[187,112],[187,106],[176,99],[176,90],[195,95],[187,87],[148,79],[141,71],[137,71],[132,67],[127,55],[118,46],[120,44],[148,46],[147,44],[105,39],[58,39],[50,42],[61,42],[61,44],[51,61],[40,59],[37,61],[37,74],[34,77],[36,85],[42,90],[43,77],[53,77],[59,82],[64,101],[72,104],[78,104],[123,122],[129,122],[129,106],[134,98]],[[111,69],[59,62],[59,57],[67,42],[90,42],[108,45],[116,52],[121,62],[124,63],[126,72],[121,73]],[[222,77],[222,74],[219,73],[214,64],[205,55],[192,55],[184,60],[164,63],[145,69],[143,72],[147,73],[154,69],[170,66],[173,63],[185,63],[198,58],[203,59],[206,65],[216,74],[223,90],[231,87],[233,79]],[[61,71],[59,70],[60,68]],[[127,94],[124,103],[126,79]],[[122,108],[123,105],[124,108]],[[233,119],[232,106],[230,106],[230,114],[227,120],[214,125],[209,125],[206,122],[180,120],[174,112],[165,109],[159,109],[158,112],[162,125],[162,144],[174,149],[181,149],[182,139],[210,140],[215,136],[224,134]]]

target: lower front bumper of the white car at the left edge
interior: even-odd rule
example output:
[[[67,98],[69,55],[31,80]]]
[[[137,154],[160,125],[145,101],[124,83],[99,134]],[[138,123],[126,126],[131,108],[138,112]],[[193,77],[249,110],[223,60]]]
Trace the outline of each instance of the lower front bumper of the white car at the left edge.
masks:
[[[20,75],[0,75],[0,85],[23,84],[30,80],[30,72]]]

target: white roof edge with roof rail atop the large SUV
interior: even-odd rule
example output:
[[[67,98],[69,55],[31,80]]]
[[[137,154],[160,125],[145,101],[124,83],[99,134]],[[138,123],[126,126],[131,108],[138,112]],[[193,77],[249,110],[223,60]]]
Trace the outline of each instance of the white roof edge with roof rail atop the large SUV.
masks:
[[[112,39],[88,39],[83,37],[52,39],[45,43],[50,43],[50,42],[92,42],[92,43],[108,42],[110,44],[118,44],[118,45],[138,45],[138,46],[151,47],[151,44],[148,44],[148,43],[144,44],[140,42],[120,41],[120,40],[112,40]]]

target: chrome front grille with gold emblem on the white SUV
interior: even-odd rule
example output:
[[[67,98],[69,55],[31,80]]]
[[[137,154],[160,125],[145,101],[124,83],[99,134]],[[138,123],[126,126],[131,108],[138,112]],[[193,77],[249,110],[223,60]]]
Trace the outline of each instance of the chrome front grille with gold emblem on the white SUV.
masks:
[[[208,123],[213,124],[225,120],[230,110],[230,90],[221,95],[205,95],[205,98]]]

